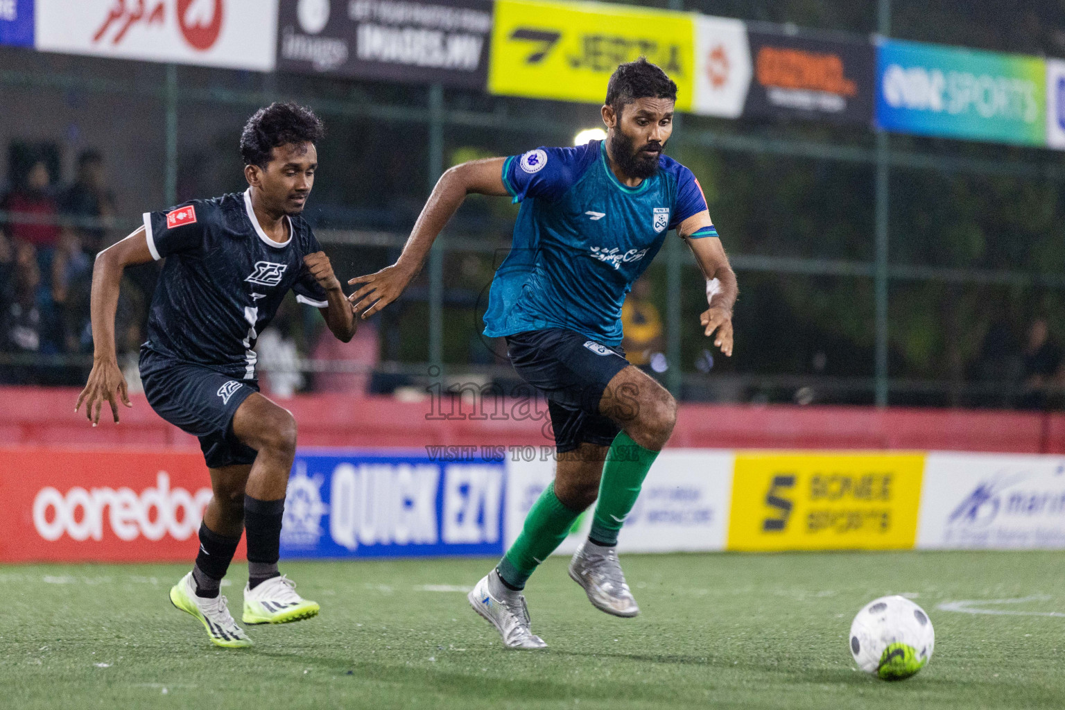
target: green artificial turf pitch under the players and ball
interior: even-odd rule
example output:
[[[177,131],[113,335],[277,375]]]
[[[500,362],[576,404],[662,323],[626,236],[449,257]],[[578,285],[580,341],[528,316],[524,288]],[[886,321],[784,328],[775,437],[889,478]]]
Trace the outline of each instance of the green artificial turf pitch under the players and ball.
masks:
[[[553,558],[527,597],[544,651],[509,650],[466,605],[490,560],[288,563],[318,618],[211,646],[166,592],[183,565],[0,566],[3,708],[1060,708],[1065,556],[628,556],[642,614],[607,616]],[[243,565],[223,589],[240,613]],[[913,595],[931,663],[853,670],[861,606]],[[945,602],[1020,615],[939,610]],[[1047,615],[1056,612],[1058,616]],[[1043,615],[1036,615],[1042,613]]]

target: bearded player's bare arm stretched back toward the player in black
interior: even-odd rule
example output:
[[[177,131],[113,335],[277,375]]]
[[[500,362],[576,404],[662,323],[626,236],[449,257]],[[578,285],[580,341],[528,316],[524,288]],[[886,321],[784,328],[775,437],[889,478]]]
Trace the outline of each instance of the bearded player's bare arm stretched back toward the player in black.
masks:
[[[396,263],[376,274],[359,276],[348,281],[349,285],[363,284],[348,296],[356,313],[362,311],[362,317],[368,318],[399,297],[422,269],[433,241],[466,195],[509,195],[503,184],[505,162],[505,158],[470,161],[456,165],[440,176]]]

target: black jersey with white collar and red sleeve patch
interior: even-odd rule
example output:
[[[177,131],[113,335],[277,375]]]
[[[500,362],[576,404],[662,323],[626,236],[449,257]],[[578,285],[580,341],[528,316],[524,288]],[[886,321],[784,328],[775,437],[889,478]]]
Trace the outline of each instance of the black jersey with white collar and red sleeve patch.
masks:
[[[148,342],[161,354],[253,380],[259,333],[290,288],[326,308],[326,292],[304,264],[320,251],[310,226],[289,219],[289,241],[263,232],[251,191],[146,212],[148,249],[166,258],[151,299]]]

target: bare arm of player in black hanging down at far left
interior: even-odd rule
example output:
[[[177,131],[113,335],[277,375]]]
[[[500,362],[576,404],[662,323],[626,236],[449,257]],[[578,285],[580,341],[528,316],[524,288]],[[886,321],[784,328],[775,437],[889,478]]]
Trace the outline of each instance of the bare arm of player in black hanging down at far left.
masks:
[[[126,378],[115,356],[115,311],[118,309],[118,288],[122,270],[127,266],[146,264],[152,260],[144,227],[121,242],[104,249],[93,265],[93,371],[78,396],[73,411],[85,404],[85,417],[95,427],[100,422],[103,402],[111,404],[111,413],[118,423],[118,399],[132,407],[126,391]]]

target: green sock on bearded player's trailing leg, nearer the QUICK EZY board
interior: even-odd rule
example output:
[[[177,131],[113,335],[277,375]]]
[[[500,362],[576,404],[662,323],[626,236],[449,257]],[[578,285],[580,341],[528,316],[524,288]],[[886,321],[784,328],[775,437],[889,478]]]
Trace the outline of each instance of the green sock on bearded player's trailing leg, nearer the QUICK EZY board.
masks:
[[[537,565],[546,560],[566,540],[570,527],[580,513],[579,510],[562,505],[555,495],[554,482],[544,489],[525,517],[525,525],[518,540],[499,560],[497,568],[503,581],[514,589],[524,589]]]

